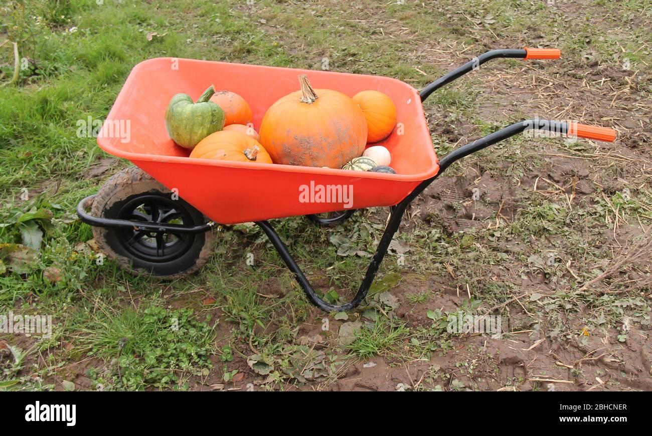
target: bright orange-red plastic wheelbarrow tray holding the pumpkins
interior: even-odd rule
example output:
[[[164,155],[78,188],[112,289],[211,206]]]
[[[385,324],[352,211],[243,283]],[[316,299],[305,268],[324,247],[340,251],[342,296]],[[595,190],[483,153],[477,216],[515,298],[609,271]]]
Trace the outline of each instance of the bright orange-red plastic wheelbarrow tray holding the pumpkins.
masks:
[[[211,84],[217,91],[233,91],[251,106],[258,130],[267,109],[299,89],[299,74],[307,74],[315,89],[334,89],[348,96],[374,89],[391,97],[397,127],[389,138],[372,145],[389,149],[397,174],[188,158],[190,151],[168,136],[164,113],[174,94],[196,99]],[[130,138],[117,134],[119,123],[130,127]],[[400,80],[170,57],[134,66],[102,127],[98,145],[130,160],[220,224],[396,205],[439,169],[419,93]],[[352,203],[344,197],[331,198],[329,203],[300,201],[299,194],[306,188],[314,192],[319,186],[352,189]]]

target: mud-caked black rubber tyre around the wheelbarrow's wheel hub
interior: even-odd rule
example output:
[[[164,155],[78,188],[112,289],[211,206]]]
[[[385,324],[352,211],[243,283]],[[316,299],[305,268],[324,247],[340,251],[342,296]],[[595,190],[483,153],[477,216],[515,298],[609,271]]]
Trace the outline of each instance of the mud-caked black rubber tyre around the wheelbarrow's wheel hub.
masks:
[[[124,205],[143,195],[164,195],[168,198],[171,191],[155,181],[138,167],[128,167],[111,177],[97,193],[91,207],[93,216],[102,218],[119,218],[119,213]],[[186,225],[200,225],[207,221],[203,214],[192,207],[183,199],[175,199],[175,204],[190,216],[192,223]],[[100,250],[110,259],[114,259],[125,270],[138,276],[153,274],[167,280],[186,276],[201,269],[213,254],[215,233],[213,230],[206,233],[187,233],[188,243],[185,250],[175,259],[169,261],[150,261],[129,253],[121,240],[124,238],[123,229],[108,227],[93,227],[93,237]]]

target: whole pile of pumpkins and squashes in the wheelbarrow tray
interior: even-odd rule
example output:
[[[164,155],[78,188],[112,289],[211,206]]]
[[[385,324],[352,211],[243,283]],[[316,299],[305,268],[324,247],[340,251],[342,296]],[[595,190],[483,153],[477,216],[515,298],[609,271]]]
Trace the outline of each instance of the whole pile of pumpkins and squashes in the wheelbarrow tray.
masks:
[[[197,102],[172,97],[165,114],[170,138],[192,149],[191,158],[342,168],[396,173],[391,154],[367,143],[387,138],[396,126],[396,106],[378,91],[349,98],[332,89],[312,89],[299,76],[300,91],[276,101],[252,127],[247,102],[230,91],[209,87]]]

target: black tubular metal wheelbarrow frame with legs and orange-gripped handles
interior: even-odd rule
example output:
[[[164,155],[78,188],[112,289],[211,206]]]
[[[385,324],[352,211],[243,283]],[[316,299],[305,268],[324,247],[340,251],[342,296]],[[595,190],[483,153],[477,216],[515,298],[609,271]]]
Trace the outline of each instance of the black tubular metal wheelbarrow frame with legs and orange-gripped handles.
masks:
[[[430,94],[432,94],[443,85],[446,85],[447,83],[450,83],[451,81],[464,76],[464,74],[467,74],[475,68],[478,68],[480,65],[490,61],[491,59],[556,59],[558,57],[559,50],[557,49],[524,48],[521,50],[504,49],[488,51],[479,57],[469,61],[465,65],[462,65],[459,68],[449,72],[449,74],[446,74],[436,81],[433,81],[424,87],[421,93],[419,93],[419,96],[421,97],[421,102],[424,102],[426,98],[430,96]],[[406,211],[409,203],[411,203],[413,199],[419,196],[419,194],[421,194],[424,189],[426,189],[435,179],[437,179],[437,177],[439,177],[439,175],[443,173],[443,171],[445,171],[457,160],[460,160],[469,154],[475,153],[476,151],[485,149],[486,147],[490,147],[491,145],[494,145],[499,141],[503,141],[504,139],[510,138],[511,136],[520,134],[526,130],[546,130],[565,136],[580,136],[582,138],[599,139],[603,141],[613,141],[615,139],[615,130],[609,128],[586,126],[584,124],[578,124],[574,122],[567,123],[564,121],[530,119],[522,121],[521,123],[514,123],[511,126],[502,128],[497,132],[494,132],[488,136],[484,136],[483,138],[477,139],[476,141],[455,149],[445,157],[441,158],[441,160],[439,160],[439,170],[437,171],[436,175],[434,175],[434,177],[430,177],[429,179],[422,181],[402,201],[391,207],[389,222],[385,228],[385,231],[383,232],[383,236],[380,239],[378,248],[376,248],[376,252],[372,257],[371,263],[367,268],[366,273],[364,274],[363,281],[357,293],[355,294],[355,297],[353,297],[352,300],[346,302],[345,304],[330,304],[321,299],[318,293],[310,284],[310,281],[308,281],[306,276],[303,274],[303,271],[299,265],[297,265],[294,258],[289,253],[288,248],[284,242],[280,239],[276,231],[274,231],[272,225],[267,220],[256,221],[256,225],[258,225],[265,232],[265,235],[267,235],[267,238],[274,245],[274,248],[276,248],[276,251],[280,255],[281,259],[283,259],[288,269],[291,270],[291,272],[294,274],[295,280],[297,280],[297,283],[299,283],[301,289],[303,289],[306,297],[308,297],[312,304],[326,312],[343,312],[346,310],[351,310],[359,306],[359,304],[361,304],[361,302],[366,297],[372,283],[374,282],[374,278],[376,277],[380,264],[387,254],[389,244],[391,243],[394,234],[401,224],[403,214]],[[94,198],[95,196],[89,196],[82,199],[82,201],[80,201],[77,206],[77,214],[80,216],[82,222],[98,227],[134,229],[136,231],[151,231],[153,233],[166,231],[174,233],[202,233],[211,230],[216,225],[216,223],[212,221],[202,225],[186,226],[179,224],[160,224],[154,222],[117,220],[96,217],[86,212],[86,209],[92,204]],[[343,222],[354,212],[354,210],[344,211],[333,218],[321,218],[317,215],[307,215],[307,217],[317,224],[331,225]]]

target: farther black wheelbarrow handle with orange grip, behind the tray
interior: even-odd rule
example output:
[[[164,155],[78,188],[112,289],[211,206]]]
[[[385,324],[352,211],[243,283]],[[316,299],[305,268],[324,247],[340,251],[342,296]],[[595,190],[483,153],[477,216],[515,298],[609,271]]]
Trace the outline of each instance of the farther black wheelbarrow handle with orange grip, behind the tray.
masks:
[[[486,61],[496,59],[499,57],[511,57],[515,59],[558,59],[561,56],[561,51],[558,48],[522,48],[522,49],[511,49],[511,48],[502,48],[500,50],[491,50],[486,53],[482,53],[478,57],[471,59],[466,64],[452,70],[449,74],[442,76],[436,81],[430,83],[426,86],[419,96],[421,96],[421,101],[425,101],[430,94],[437,91],[437,89],[443,87],[447,83],[456,80],[467,72],[471,72],[476,68],[479,68]]]

